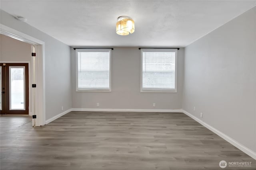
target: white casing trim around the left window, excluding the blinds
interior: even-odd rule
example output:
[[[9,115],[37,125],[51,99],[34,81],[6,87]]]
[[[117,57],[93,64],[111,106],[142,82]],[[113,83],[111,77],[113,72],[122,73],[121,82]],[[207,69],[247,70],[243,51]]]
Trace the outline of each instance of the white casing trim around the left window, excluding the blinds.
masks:
[[[109,51],[109,89],[106,88],[78,88],[78,52]],[[111,92],[111,49],[76,49],[76,92]]]

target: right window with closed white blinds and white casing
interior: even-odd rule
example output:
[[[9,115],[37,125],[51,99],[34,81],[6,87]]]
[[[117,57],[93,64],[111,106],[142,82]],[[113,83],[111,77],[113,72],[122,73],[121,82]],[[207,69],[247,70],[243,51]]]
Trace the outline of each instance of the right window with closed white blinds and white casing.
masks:
[[[141,50],[140,92],[177,92],[177,50]]]

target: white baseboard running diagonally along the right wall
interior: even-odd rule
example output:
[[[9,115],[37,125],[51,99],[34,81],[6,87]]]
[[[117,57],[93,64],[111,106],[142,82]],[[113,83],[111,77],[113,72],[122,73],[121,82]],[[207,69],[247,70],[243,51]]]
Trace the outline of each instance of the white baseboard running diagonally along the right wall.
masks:
[[[232,145],[234,145],[235,147],[242,150],[244,153],[248,154],[249,156],[251,156],[252,158],[254,158],[256,160],[256,152],[254,152],[253,150],[245,147],[244,145],[242,145],[238,141],[234,140],[233,138],[229,137],[228,135],[226,135],[226,134],[222,133],[221,131],[215,129],[214,127],[208,125],[207,123],[205,123],[201,119],[198,119],[196,116],[192,115],[191,113],[188,113],[185,110],[183,110],[183,113],[185,113],[186,115],[188,115],[189,117],[191,117],[192,119],[194,119],[195,121],[197,121],[198,123],[200,123],[201,125],[206,127],[207,129],[209,129],[213,133],[216,133],[218,136],[222,137],[223,139],[225,139],[226,141],[228,141],[229,143],[231,143]]]

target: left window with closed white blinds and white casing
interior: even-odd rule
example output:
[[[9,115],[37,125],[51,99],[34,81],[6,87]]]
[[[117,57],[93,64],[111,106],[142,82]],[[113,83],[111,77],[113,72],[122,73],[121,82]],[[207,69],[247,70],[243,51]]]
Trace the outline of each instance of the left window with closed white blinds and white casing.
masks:
[[[76,49],[76,91],[111,92],[110,49]]]

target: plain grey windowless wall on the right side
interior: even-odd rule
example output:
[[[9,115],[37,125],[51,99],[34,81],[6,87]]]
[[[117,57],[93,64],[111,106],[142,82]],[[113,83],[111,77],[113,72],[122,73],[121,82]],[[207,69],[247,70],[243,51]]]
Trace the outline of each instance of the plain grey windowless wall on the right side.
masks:
[[[256,152],[256,7],[188,45],[184,68],[183,109]]]

